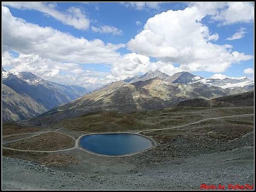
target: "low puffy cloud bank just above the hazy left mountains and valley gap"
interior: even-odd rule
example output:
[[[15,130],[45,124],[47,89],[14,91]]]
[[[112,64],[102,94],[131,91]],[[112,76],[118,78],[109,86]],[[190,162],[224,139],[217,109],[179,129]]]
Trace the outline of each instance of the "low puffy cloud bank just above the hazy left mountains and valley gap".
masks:
[[[34,54],[20,54],[17,58],[8,52],[2,56],[2,65],[12,66],[11,72],[28,71],[52,82],[66,82],[88,87],[95,84],[106,84],[113,79],[105,79],[110,73],[90,71],[81,68],[77,63],[63,63],[42,59]]]

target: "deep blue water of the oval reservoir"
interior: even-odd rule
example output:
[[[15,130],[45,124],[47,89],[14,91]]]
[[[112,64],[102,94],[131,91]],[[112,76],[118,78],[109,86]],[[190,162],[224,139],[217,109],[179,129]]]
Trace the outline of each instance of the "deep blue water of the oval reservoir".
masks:
[[[108,133],[83,136],[80,146],[101,155],[126,155],[152,147],[148,138],[130,133]]]

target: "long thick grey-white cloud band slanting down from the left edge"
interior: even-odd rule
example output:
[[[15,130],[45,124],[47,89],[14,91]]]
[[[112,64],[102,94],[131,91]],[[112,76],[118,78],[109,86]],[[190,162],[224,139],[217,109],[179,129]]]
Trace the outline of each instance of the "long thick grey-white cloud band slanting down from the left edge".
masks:
[[[124,44],[105,44],[102,40],[87,40],[50,27],[40,27],[13,17],[2,6],[3,51],[34,54],[59,62],[111,64],[119,58],[117,49]]]

